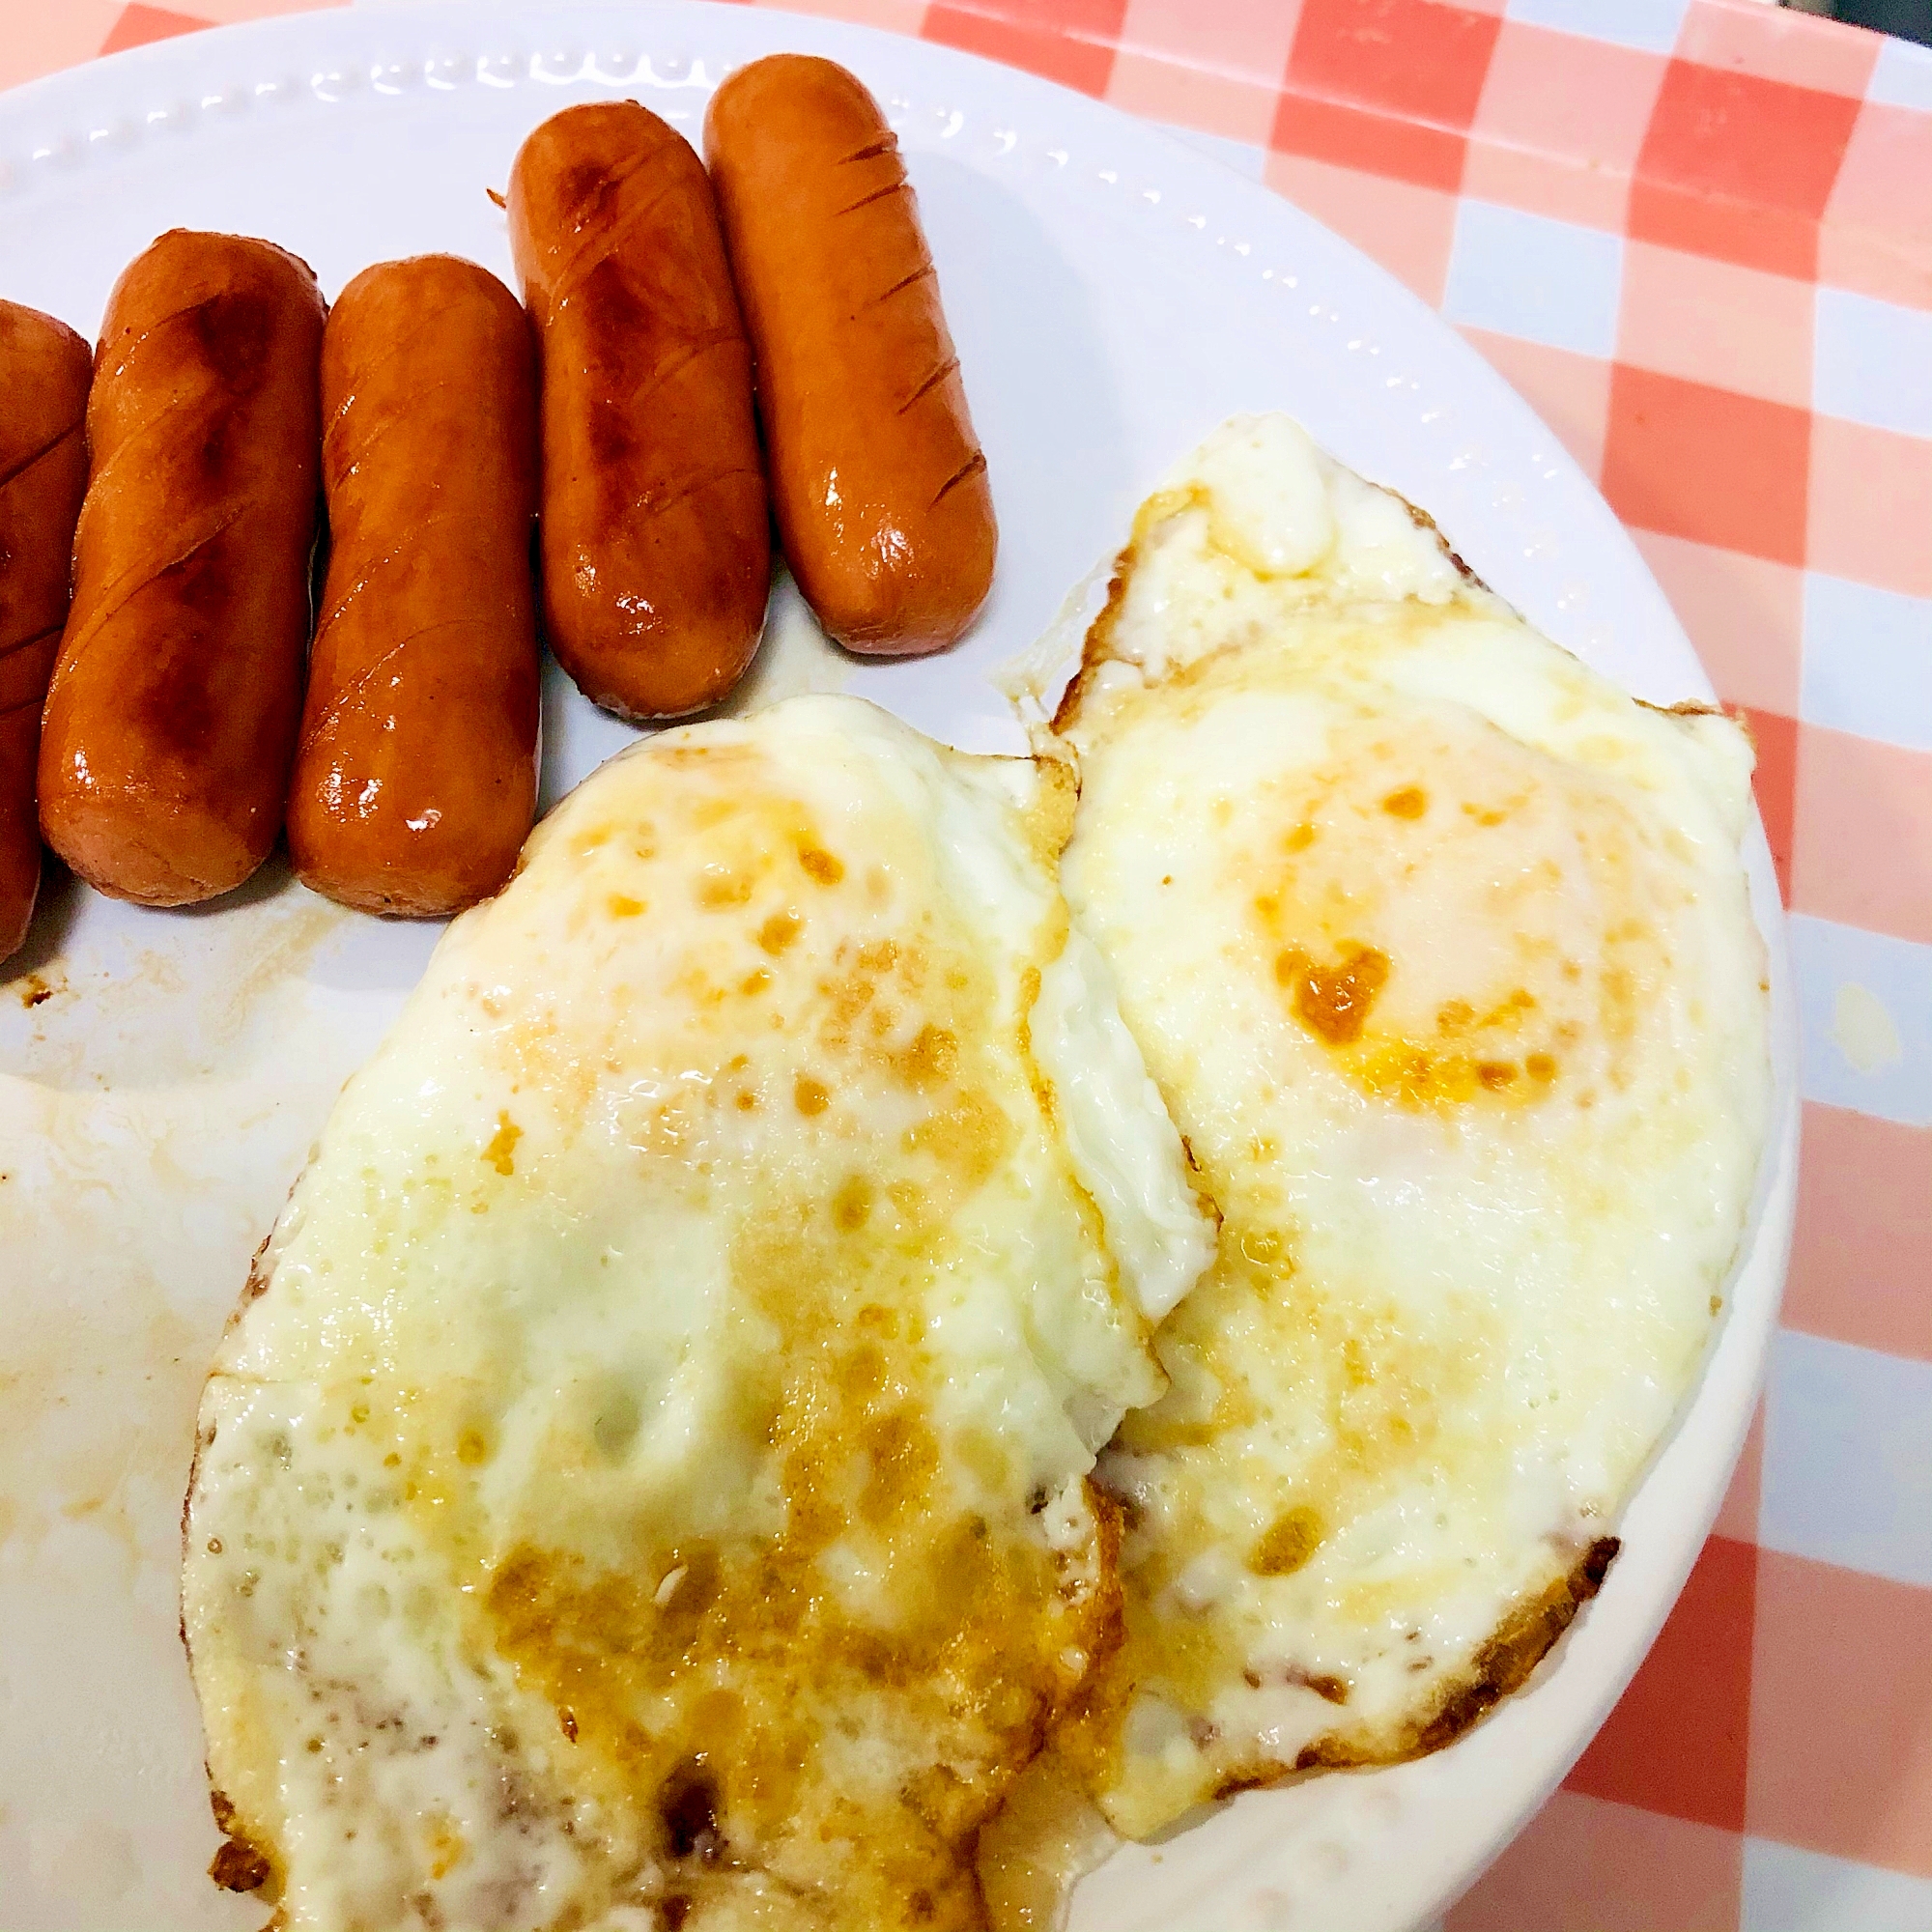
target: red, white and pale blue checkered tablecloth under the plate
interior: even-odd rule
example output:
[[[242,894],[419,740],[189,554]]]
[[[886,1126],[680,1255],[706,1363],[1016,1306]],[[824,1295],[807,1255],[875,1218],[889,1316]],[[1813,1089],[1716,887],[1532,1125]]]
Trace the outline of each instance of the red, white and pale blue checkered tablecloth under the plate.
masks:
[[[305,4],[0,0],[0,85]],[[1748,713],[1804,1028],[1764,1414],[1447,1932],[1932,1932],[1932,54],[1754,0],[794,4],[1190,131],[1378,257]]]

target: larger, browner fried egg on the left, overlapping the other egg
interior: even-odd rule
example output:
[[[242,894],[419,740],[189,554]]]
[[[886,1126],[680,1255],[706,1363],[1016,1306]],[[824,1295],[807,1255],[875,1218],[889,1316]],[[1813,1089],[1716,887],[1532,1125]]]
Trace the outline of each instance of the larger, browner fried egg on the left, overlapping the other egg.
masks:
[[[450,927],[201,1406],[216,1878],[278,1926],[983,1922],[1213,1246],[1070,811],[798,697],[620,755]]]

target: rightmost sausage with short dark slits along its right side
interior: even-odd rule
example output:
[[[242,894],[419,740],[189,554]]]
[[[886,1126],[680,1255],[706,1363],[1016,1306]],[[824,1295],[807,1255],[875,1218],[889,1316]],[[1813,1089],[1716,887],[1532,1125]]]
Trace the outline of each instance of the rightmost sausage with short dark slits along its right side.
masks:
[[[844,68],[773,54],[713,95],[705,160],[792,576],[848,649],[945,649],[999,537],[898,137]]]

